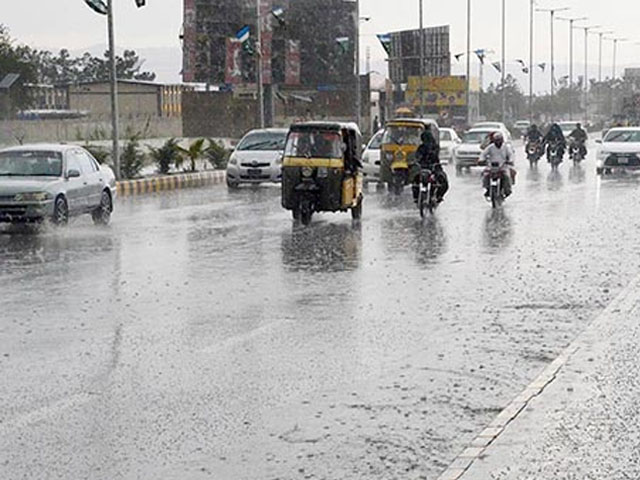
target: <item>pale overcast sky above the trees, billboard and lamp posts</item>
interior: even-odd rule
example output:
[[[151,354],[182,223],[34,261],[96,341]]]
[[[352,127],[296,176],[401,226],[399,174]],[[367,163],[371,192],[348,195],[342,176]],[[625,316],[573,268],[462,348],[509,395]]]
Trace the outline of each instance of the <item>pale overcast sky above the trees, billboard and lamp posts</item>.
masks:
[[[423,0],[425,26],[451,25],[451,53],[465,51],[466,0]],[[120,47],[133,48],[147,57],[148,69],[159,74],[158,80],[179,81],[180,42],[178,35],[182,23],[182,0],[147,0],[147,6],[137,9],[133,0],[114,0],[116,12],[116,37]],[[507,49],[509,72],[516,75],[522,85],[526,77],[516,66],[515,59],[529,58],[529,0],[505,0],[507,7]],[[640,66],[640,1],[638,0],[536,0],[538,8],[570,7],[558,16],[589,18],[585,24],[601,25],[613,30],[615,36],[627,38],[618,49],[618,71],[625,66]],[[83,0],[19,0],[0,7],[0,22],[6,24],[12,36],[21,43],[40,48],[58,50],[84,50],[103,47],[106,43],[105,18],[93,13]],[[500,58],[500,20],[502,0],[472,0],[472,49],[494,50],[494,58]],[[385,54],[375,34],[393,30],[417,28],[418,0],[360,0],[363,22],[361,31],[362,69],[365,70],[367,49],[371,55],[371,70],[386,73]],[[548,13],[536,13],[536,63],[549,63],[550,20]],[[567,74],[569,27],[567,22],[555,24],[556,65],[558,78]],[[575,32],[576,75],[584,71],[584,32]],[[612,70],[612,42],[604,46],[604,75]],[[597,76],[598,40],[594,35],[589,41],[589,76]],[[477,73],[474,58],[473,71]],[[458,64],[453,60],[454,74],[462,74],[465,60]],[[498,80],[491,67],[485,69],[486,83]],[[550,83],[547,73],[536,73],[538,90]]]

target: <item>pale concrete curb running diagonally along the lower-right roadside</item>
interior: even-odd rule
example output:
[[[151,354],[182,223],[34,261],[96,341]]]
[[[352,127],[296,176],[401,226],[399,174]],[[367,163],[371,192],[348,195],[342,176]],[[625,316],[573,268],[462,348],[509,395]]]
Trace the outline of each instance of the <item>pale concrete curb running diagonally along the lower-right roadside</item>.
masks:
[[[484,455],[485,450],[500,436],[507,425],[515,420],[529,403],[553,382],[558,372],[567,364],[569,359],[581,348],[585,339],[605,324],[609,317],[625,308],[627,303],[634,300],[633,294],[640,291],[640,276],[635,278],[596,319],[589,324],[551,364],[549,364],[533,382],[524,389],[498,416],[485,428],[465,450],[458,455],[438,480],[464,480],[471,465]]]

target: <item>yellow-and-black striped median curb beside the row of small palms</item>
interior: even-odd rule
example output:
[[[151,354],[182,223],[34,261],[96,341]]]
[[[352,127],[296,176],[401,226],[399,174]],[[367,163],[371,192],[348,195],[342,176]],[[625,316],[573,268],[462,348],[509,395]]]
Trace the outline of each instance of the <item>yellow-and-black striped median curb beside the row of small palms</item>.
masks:
[[[164,177],[143,178],[140,180],[124,180],[117,183],[118,196],[131,197],[165,190],[181,190],[184,188],[204,187],[223,183],[226,178],[223,171],[209,171],[167,175]]]

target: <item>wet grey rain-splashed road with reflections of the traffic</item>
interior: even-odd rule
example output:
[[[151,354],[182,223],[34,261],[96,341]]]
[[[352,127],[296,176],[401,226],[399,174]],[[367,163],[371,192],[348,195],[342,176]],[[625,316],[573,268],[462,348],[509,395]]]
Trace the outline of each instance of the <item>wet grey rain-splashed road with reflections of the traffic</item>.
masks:
[[[640,266],[640,181],[519,154],[497,212],[471,174],[424,222],[216,187],[4,229],[0,478],[435,478]]]

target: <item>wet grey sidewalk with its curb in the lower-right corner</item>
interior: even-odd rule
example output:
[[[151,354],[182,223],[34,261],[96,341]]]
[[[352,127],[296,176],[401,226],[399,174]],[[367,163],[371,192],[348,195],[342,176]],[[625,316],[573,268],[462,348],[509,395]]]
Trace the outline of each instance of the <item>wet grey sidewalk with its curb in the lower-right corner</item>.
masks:
[[[640,479],[640,277],[440,480]]]

